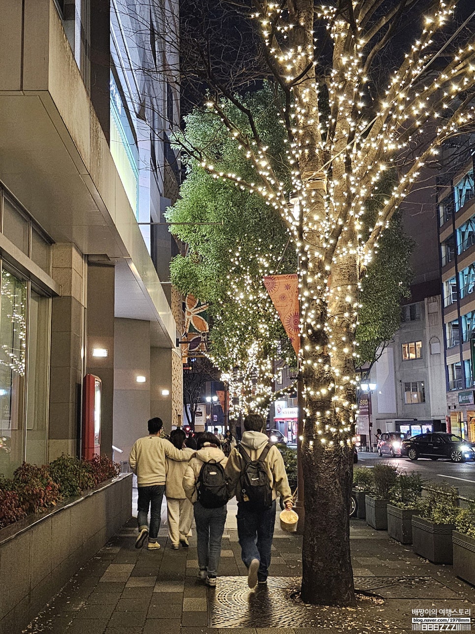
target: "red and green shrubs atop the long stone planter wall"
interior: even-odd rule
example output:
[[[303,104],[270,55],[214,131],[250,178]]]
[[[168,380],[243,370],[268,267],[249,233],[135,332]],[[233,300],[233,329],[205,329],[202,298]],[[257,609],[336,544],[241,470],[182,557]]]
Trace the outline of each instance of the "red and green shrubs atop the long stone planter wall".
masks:
[[[63,454],[41,467],[23,462],[13,478],[0,474],[0,528],[53,507],[63,498],[79,496],[119,472],[119,465],[98,455],[78,460]]]

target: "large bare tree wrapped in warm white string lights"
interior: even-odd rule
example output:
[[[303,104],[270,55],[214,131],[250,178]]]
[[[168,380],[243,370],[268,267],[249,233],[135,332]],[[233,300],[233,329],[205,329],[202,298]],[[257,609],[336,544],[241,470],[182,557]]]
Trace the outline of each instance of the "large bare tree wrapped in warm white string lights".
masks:
[[[331,0],[326,6],[314,0],[234,0],[229,5],[241,14],[248,11],[261,37],[267,76],[282,95],[277,107],[286,129],[291,183],[282,179],[246,103],[222,77],[213,81],[206,56],[203,81],[212,86],[208,107],[256,176],[217,169],[205,148],[188,151],[216,178],[262,196],[293,237],[300,263],[306,399],[301,596],[312,603],[352,605],[348,505],[361,281],[381,232],[422,167],[445,139],[472,122],[474,37],[467,20],[453,20],[456,0]],[[414,42],[405,44],[402,34],[409,37],[416,28]],[[223,108],[222,96],[238,117]],[[390,169],[396,184],[378,197],[378,184]],[[365,226],[367,202],[375,197],[376,222]]]

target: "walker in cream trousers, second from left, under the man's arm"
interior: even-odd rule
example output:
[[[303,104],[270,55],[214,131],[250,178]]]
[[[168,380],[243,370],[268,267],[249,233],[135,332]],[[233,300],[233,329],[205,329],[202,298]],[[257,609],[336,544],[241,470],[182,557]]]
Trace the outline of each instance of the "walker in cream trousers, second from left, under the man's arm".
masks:
[[[182,429],[174,429],[170,434],[170,443],[187,453],[189,458],[194,455],[194,450],[185,445],[186,434]],[[188,458],[188,459],[189,459]],[[167,497],[168,537],[172,542],[172,548],[177,550],[180,544],[189,547],[188,533],[193,522],[193,504],[185,495],[183,489],[183,476],[187,462],[177,462],[167,457],[167,479],[165,482],[165,496]]]

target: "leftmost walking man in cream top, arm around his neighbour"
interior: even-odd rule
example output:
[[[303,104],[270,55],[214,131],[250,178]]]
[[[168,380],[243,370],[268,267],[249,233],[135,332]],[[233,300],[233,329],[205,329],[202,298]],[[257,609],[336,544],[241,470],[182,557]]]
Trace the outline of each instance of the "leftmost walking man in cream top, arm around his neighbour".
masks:
[[[163,493],[165,491],[166,458],[189,460],[189,454],[177,450],[170,441],[161,437],[162,418],[150,418],[148,436],[139,438],[129,455],[129,465],[137,475],[137,524],[139,534],[136,548],[142,548],[148,538],[148,550],[160,548],[157,541],[160,529],[160,513]],[[148,527],[148,510],[150,508],[150,528]]]

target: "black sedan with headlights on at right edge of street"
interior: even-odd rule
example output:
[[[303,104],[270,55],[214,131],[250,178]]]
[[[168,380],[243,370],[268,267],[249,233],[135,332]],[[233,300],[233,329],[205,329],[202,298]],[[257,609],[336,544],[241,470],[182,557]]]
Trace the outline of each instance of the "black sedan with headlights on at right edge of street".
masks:
[[[474,443],[465,441],[455,434],[432,432],[403,440],[401,455],[407,456],[410,460],[450,458],[452,462],[463,462],[475,460],[475,446]]]

